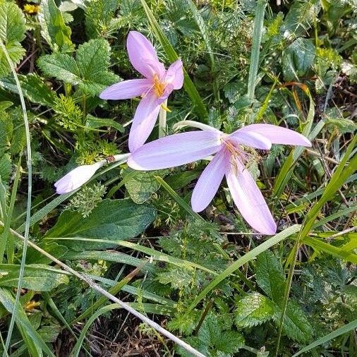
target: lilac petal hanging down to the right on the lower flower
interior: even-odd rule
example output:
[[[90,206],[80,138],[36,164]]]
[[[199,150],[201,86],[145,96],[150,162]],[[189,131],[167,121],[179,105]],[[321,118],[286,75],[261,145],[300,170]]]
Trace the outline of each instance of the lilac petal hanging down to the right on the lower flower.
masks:
[[[234,168],[228,168],[226,181],[239,212],[256,231],[262,234],[274,234],[277,231],[277,225],[262,193],[249,171],[239,162],[236,164],[238,174]]]

